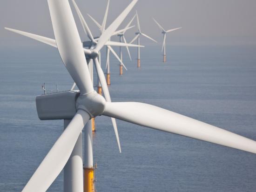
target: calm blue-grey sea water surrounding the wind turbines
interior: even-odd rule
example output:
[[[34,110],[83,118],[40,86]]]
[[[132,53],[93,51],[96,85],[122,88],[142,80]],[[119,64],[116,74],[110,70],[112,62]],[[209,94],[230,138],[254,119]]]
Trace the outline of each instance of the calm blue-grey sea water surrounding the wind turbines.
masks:
[[[171,46],[166,64],[160,49],[141,51],[141,69],[135,50],[133,61],[124,50],[128,71],[121,77],[111,58],[113,101],[146,102],[256,140],[256,46]],[[37,117],[35,97],[44,82],[61,91],[73,84],[55,48],[0,49],[0,192],[20,192],[61,135],[61,120]],[[110,118],[96,119],[98,192],[256,191],[255,154],[117,124],[121,154]],[[63,191],[63,173],[48,191]]]

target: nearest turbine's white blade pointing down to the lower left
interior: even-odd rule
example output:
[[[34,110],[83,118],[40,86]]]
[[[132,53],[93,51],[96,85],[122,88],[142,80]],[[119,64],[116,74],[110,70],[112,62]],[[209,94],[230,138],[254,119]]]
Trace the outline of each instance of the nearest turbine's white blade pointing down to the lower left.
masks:
[[[88,113],[78,110],[65,131],[27,182],[22,192],[46,192],[67,163],[75,143],[89,120]]]

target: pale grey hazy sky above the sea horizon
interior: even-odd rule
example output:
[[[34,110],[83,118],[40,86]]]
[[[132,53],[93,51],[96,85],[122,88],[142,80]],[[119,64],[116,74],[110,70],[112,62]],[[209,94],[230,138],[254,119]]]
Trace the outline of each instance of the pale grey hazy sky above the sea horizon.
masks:
[[[107,0],[76,0],[94,36],[99,31],[87,13],[102,22]],[[131,0],[110,0],[107,25],[128,6]],[[74,12],[82,40],[86,40]],[[173,45],[256,45],[256,0],[139,0],[122,26],[138,10],[141,31],[162,43],[162,34],[152,20],[165,28],[183,28],[169,33],[167,43]],[[134,22],[135,24],[135,22]],[[0,46],[40,45],[18,34],[4,30],[4,26],[54,38],[47,0],[1,0]],[[135,29],[127,32],[130,41]],[[141,39],[144,45],[153,45]]]

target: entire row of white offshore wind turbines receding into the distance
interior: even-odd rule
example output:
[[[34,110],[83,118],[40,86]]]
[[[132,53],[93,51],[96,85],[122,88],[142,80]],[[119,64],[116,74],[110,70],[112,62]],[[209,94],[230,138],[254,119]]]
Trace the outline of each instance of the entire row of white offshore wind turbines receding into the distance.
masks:
[[[95,118],[101,118],[101,116],[111,119],[120,153],[121,144],[116,119],[166,133],[174,133],[256,153],[256,141],[222,128],[158,106],[139,102],[112,102],[108,89],[111,84],[110,53],[118,60],[120,75],[122,75],[123,68],[126,70],[128,68],[123,63],[123,48],[126,48],[130,59],[132,59],[132,55],[129,47],[137,48],[137,67],[141,67],[140,53],[141,47],[144,47],[141,45],[141,38],[145,37],[156,42],[148,34],[142,33],[143,30],[137,12],[123,29],[119,29],[137,1],[132,0],[128,7],[109,26],[106,26],[110,4],[108,0],[101,24],[92,16],[89,16],[99,28],[100,36],[95,36],[84,18],[85,13],[81,13],[75,0],[71,0],[83,27],[83,33],[88,37],[87,40],[81,40],[74,20],[74,13],[68,0],[47,0],[55,39],[6,28],[14,33],[56,47],[67,72],[74,80],[74,83],[70,83],[71,89],[68,91],[44,93],[36,97],[39,119],[63,120],[64,131],[42,160],[22,192],[47,191],[62,170],[64,170],[64,192],[95,192],[92,135]],[[129,29],[134,27],[131,25],[135,18],[138,31],[131,41],[127,41],[125,35],[129,32]],[[163,35],[162,53],[163,62],[166,62],[167,33],[181,27],[165,30],[155,19],[152,20],[153,22],[160,28]],[[114,36],[119,37],[118,42],[111,40]],[[135,40],[137,40],[137,44],[133,44]],[[113,46],[119,48],[119,54],[115,52]],[[102,49],[106,49],[106,67],[102,65]],[[148,55],[148,58],[150,58],[150,55]],[[98,77],[96,82],[97,92],[94,90],[94,69]],[[72,83],[73,86],[71,86]],[[83,139],[82,131],[84,132]]]

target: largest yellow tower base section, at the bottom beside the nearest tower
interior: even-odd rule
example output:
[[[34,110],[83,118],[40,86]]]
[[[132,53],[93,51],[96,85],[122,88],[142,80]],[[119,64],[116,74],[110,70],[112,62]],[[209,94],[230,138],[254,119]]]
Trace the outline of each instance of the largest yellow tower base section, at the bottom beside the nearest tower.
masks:
[[[95,192],[94,186],[94,168],[84,169],[84,192]]]

